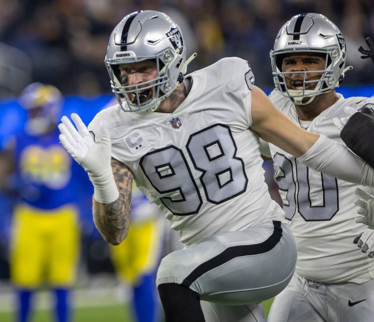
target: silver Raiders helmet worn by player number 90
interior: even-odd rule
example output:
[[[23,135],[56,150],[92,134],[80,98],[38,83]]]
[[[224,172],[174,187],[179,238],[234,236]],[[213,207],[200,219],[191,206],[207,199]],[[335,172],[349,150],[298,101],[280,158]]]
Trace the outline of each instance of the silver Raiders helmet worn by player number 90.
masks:
[[[318,71],[304,71],[303,89],[289,89],[285,74],[300,74],[300,71],[283,72],[282,62],[287,54],[319,53],[325,55],[325,68]],[[344,73],[352,69],[346,64],[346,42],[338,27],[319,13],[301,13],[293,16],[279,30],[270,50],[273,79],[279,93],[289,96],[297,105],[306,105],[316,95],[321,95],[338,87]],[[322,73],[321,79],[306,80],[307,73]],[[316,83],[314,89],[305,89],[306,84]],[[308,97],[308,100],[303,98]]]

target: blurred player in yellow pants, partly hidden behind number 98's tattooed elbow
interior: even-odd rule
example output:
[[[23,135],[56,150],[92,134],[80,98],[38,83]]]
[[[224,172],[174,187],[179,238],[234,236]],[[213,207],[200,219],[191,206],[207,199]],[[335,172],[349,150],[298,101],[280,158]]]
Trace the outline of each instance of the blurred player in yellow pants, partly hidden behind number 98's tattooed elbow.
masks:
[[[164,241],[165,219],[161,214],[133,184],[131,231],[120,245],[110,248],[120,281],[132,287],[132,309],[138,322],[160,321],[156,272]]]

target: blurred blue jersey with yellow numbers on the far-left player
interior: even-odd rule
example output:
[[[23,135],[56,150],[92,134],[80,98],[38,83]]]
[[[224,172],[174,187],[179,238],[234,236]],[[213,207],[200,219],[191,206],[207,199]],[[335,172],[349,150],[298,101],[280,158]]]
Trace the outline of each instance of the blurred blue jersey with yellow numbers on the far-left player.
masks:
[[[42,136],[16,135],[16,186],[22,201],[54,209],[79,201],[88,176],[59,143],[59,131]]]

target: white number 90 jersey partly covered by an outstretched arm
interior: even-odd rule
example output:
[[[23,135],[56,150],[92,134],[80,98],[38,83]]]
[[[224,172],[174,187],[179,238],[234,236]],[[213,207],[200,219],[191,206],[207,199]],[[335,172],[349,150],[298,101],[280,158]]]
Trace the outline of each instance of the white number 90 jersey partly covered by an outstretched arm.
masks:
[[[294,123],[307,131],[323,134],[344,144],[334,117],[347,117],[344,107],[356,110],[374,107],[374,98],[339,99],[312,122],[299,121],[294,104],[277,91],[270,93],[273,104]],[[283,210],[297,244],[296,272],[307,279],[325,283],[363,283],[374,277],[374,261],[362,253],[353,239],[365,227],[357,224],[354,205],[355,188],[373,194],[370,187],[347,183],[309,169],[294,156],[269,144],[274,163],[274,177],[282,197]],[[350,169],[346,169],[350,171]]]

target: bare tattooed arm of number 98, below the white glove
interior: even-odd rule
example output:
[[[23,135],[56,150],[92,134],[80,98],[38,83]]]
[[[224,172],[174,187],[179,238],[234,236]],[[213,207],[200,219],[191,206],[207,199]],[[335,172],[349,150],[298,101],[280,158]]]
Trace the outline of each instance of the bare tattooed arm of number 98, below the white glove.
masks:
[[[129,231],[134,178],[131,170],[116,159],[112,158],[111,165],[119,197],[111,203],[101,203],[93,199],[93,221],[108,243],[119,245]]]

